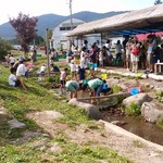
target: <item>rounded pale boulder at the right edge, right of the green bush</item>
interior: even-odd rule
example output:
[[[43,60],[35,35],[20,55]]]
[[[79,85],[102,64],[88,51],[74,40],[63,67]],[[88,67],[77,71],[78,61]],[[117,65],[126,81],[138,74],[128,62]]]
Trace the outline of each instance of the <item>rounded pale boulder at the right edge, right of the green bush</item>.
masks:
[[[146,121],[155,123],[163,118],[163,105],[155,102],[145,102],[141,106],[141,115]]]

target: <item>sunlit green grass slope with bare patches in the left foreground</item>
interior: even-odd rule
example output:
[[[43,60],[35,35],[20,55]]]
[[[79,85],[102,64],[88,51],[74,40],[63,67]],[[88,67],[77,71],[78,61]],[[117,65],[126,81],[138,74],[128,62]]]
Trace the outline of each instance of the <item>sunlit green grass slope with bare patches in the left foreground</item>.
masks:
[[[46,59],[39,59],[37,66],[45,63]],[[37,124],[25,117],[27,113],[36,111],[53,110],[62,113],[64,117],[60,123],[75,127],[79,124],[93,124],[83,110],[71,106],[55,99],[53,95],[40,85],[36,77],[27,79],[27,90],[14,88],[8,85],[10,71],[8,67],[0,65],[2,74],[0,74],[0,106],[8,109],[9,113],[25,123],[24,129],[11,129],[8,126],[8,120],[11,116],[0,114],[0,163],[58,163],[58,162],[83,162],[99,163],[102,161],[111,163],[127,163],[128,161],[120,156],[115,151],[105,147],[99,147],[91,143],[79,146],[72,142],[64,136],[64,130],[59,133],[54,138],[46,138],[39,136],[32,138],[26,142],[16,141],[24,130],[35,131],[39,128]],[[43,148],[34,148],[34,141],[46,141]],[[49,143],[58,143],[62,149],[60,152],[51,152]]]

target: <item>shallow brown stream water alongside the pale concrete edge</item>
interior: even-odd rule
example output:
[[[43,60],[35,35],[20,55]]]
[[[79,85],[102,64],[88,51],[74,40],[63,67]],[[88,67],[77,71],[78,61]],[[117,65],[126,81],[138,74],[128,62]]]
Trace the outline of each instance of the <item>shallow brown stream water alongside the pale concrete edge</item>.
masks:
[[[125,122],[126,124],[122,125],[122,128],[134,133],[146,140],[163,146],[163,129],[158,128],[155,124],[145,122],[142,117],[125,116],[111,113],[110,111],[101,111],[101,118],[106,122]]]

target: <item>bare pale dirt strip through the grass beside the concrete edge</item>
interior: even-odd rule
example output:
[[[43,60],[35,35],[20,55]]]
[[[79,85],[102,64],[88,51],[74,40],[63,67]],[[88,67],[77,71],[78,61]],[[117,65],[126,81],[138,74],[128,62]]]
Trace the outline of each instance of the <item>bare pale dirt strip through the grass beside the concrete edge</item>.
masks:
[[[163,151],[149,147],[140,140],[123,136],[109,128],[106,129],[102,122],[95,122],[93,126],[82,124],[76,128],[71,128],[68,125],[54,122],[55,118],[61,116],[58,112],[51,114],[48,111],[27,115],[28,118],[34,120],[52,137],[55,137],[58,131],[62,130],[66,137],[78,145],[91,142],[92,145],[108,147],[136,163],[163,162]]]

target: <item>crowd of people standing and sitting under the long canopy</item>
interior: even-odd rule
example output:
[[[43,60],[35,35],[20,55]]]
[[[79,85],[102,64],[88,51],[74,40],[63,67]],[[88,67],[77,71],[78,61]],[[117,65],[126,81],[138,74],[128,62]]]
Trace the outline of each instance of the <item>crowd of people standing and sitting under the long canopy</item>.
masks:
[[[117,40],[114,51],[112,47],[112,41],[106,40],[102,48],[99,48],[97,42],[88,48],[88,41],[85,40],[82,49],[73,45],[67,58],[73,57],[74,62],[77,62],[78,55],[82,68],[88,68],[90,64],[96,63],[97,66],[124,66],[133,73],[137,73],[139,68],[152,73],[154,64],[163,62],[163,45],[158,45],[155,35],[149,35],[145,41],[138,41],[136,37],[127,36],[122,42]]]

